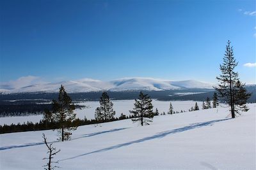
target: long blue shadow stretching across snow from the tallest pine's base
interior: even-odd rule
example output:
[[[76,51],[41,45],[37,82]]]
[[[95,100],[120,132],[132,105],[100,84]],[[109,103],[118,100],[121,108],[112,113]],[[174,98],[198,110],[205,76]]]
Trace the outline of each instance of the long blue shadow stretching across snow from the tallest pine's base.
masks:
[[[164,138],[165,136],[168,136],[170,134],[175,134],[175,133],[179,133],[179,132],[188,131],[188,130],[191,130],[191,129],[196,129],[196,128],[200,128],[200,127],[204,127],[204,126],[208,126],[208,125],[213,125],[216,122],[221,122],[221,121],[225,121],[225,120],[229,120],[229,119],[230,118],[225,118],[225,119],[220,119],[220,120],[212,120],[212,121],[209,121],[209,122],[200,122],[200,123],[190,124],[188,126],[181,127],[181,128],[178,128],[178,129],[173,129],[173,130],[170,130],[170,131],[159,132],[159,133],[157,133],[157,134],[155,134],[153,136],[148,136],[148,137],[145,137],[145,138],[142,138],[142,139],[138,139],[138,140],[135,140],[135,141],[130,141],[130,142],[127,142],[127,143],[122,143],[122,144],[119,144],[119,145],[110,146],[108,148],[103,148],[103,149],[100,149],[100,150],[95,150],[93,152],[84,153],[84,154],[77,155],[75,157],[70,157],[70,158],[63,159],[63,160],[75,159],[77,157],[82,157],[82,156],[85,156],[85,155],[90,155],[92,153],[104,152],[104,151],[108,151],[108,150],[113,150],[113,149],[121,148],[121,147],[124,147],[124,146],[129,146],[129,145],[132,145],[134,143],[141,143],[141,142],[149,141],[149,140],[152,140],[152,139]],[[62,161],[62,160],[60,160],[60,161]]]

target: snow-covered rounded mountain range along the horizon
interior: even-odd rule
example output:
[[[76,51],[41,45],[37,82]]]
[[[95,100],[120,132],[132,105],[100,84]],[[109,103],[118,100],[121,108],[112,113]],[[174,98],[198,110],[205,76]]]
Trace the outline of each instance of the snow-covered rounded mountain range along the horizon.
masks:
[[[17,82],[19,83],[19,82]],[[56,83],[45,83],[44,81],[34,82],[22,86],[12,83],[1,83],[0,92],[19,93],[19,92],[58,92],[61,85],[68,92],[99,92],[109,90],[115,92],[127,90],[181,90],[181,89],[212,89],[209,83],[203,83],[195,80],[170,81],[156,78],[121,78],[112,81],[100,81],[93,79],[80,79],[70,81],[59,81]]]

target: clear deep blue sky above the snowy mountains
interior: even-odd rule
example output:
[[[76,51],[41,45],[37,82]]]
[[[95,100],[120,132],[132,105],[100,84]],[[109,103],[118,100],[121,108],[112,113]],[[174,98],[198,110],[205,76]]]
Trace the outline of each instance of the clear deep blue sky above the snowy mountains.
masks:
[[[3,0],[0,15],[2,82],[31,75],[214,83],[230,39],[241,80],[255,83],[255,1]]]

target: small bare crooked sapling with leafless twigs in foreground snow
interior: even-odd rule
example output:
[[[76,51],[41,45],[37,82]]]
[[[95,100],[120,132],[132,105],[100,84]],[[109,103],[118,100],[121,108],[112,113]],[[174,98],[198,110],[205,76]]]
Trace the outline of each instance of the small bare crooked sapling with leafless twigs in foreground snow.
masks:
[[[45,145],[47,146],[47,149],[48,149],[47,153],[49,153],[49,157],[43,159],[43,160],[48,159],[47,164],[43,167],[45,167],[44,168],[45,170],[53,170],[53,169],[55,169],[55,167],[58,167],[58,166],[53,166],[52,164],[58,164],[59,163],[58,161],[52,161],[52,159],[54,159],[53,156],[56,155],[58,152],[60,152],[60,150],[56,151],[56,148],[52,147],[52,143],[50,145],[49,145],[49,143],[47,143],[47,138],[45,137],[45,134],[43,134],[43,139],[44,139],[44,143],[45,143]]]

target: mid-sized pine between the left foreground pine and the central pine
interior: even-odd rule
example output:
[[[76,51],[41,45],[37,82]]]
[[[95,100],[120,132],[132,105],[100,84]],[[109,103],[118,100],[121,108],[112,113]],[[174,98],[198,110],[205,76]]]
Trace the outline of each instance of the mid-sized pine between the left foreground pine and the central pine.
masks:
[[[108,93],[103,92],[100,97],[100,107],[95,110],[96,120],[111,120],[114,118],[116,112],[113,110],[113,103],[110,101]]]

